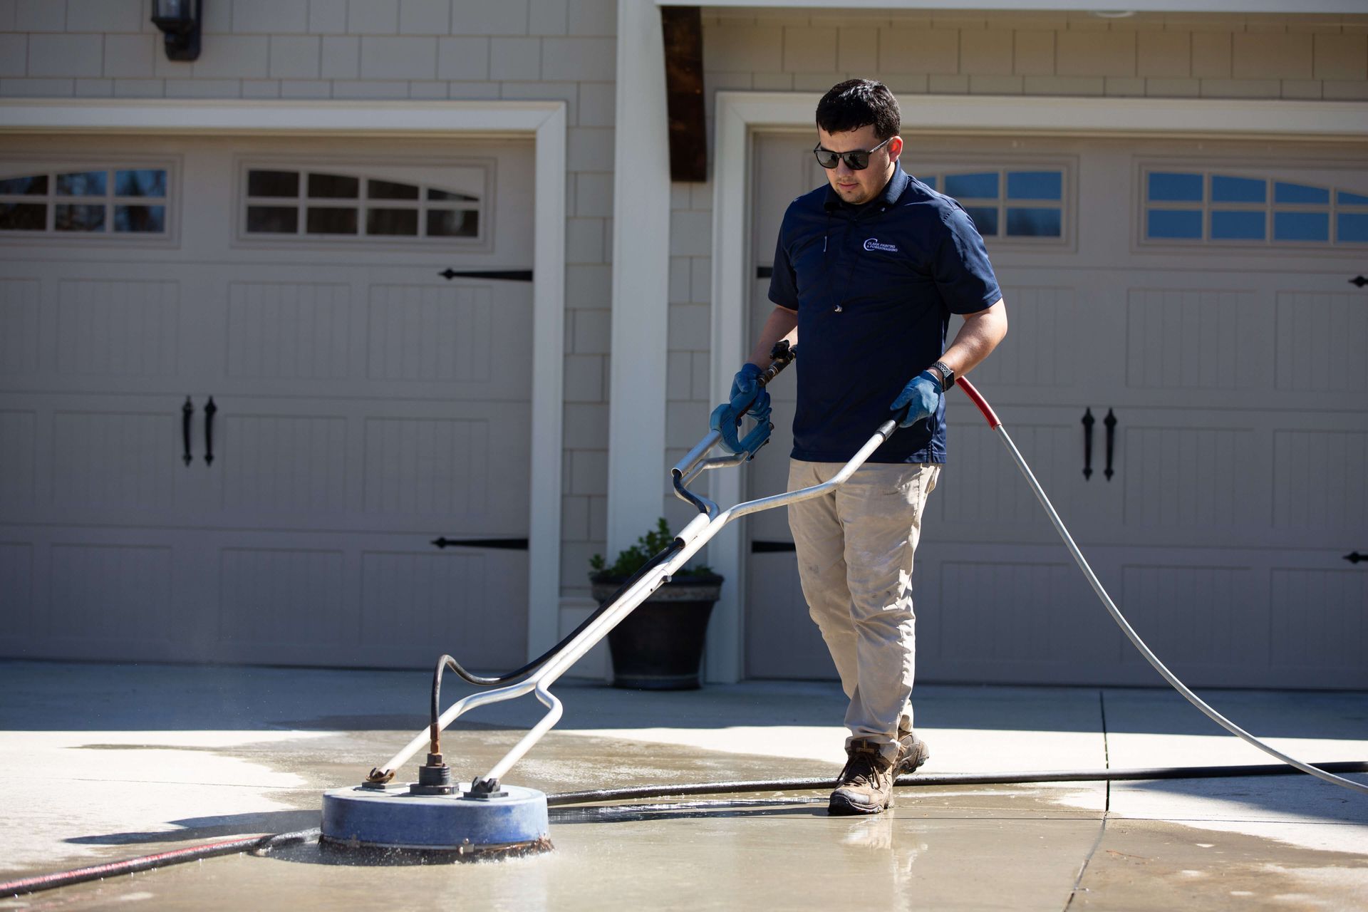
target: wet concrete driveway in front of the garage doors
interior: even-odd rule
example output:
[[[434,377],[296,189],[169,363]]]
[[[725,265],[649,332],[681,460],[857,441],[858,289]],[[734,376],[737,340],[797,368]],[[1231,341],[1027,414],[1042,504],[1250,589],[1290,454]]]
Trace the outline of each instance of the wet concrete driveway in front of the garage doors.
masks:
[[[0,663],[0,762],[48,777],[4,803],[0,879],[317,826],[323,789],[358,781],[425,725],[427,677]],[[843,759],[834,686],[558,692],[566,718],[510,782],[555,793],[832,777]],[[926,771],[1263,762],[1171,696],[922,688]],[[1368,757],[1364,695],[1219,697],[1305,759]],[[458,775],[521,737],[539,715],[525,703],[443,736]],[[0,909],[1368,907],[1368,799],[1304,775],[911,788],[892,814],[856,819],[828,816],[819,792],[562,807],[551,840],[546,856],[417,867],[337,864],[297,845]]]

